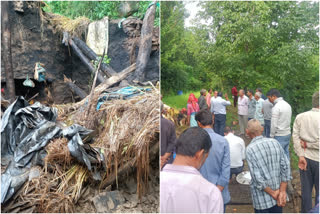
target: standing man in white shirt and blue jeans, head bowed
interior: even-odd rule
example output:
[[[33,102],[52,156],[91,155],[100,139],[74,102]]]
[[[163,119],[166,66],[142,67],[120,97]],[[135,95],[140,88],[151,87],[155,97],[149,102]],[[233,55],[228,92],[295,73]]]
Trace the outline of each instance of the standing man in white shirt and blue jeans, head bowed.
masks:
[[[267,94],[269,101],[274,104],[271,116],[271,131],[270,137],[274,137],[284,149],[288,159],[289,143],[291,139],[291,106],[284,101],[280,92],[277,89],[270,89]]]

